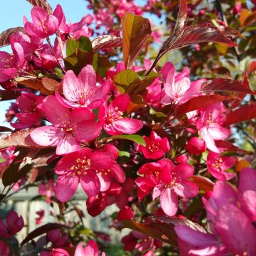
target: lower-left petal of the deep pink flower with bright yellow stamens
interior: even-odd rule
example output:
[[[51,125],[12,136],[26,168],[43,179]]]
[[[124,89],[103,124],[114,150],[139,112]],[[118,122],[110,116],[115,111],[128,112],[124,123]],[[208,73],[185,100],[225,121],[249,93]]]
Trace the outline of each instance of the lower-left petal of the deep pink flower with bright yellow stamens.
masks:
[[[55,186],[55,195],[61,202],[67,202],[75,194],[79,179],[77,176],[61,175],[58,177]]]

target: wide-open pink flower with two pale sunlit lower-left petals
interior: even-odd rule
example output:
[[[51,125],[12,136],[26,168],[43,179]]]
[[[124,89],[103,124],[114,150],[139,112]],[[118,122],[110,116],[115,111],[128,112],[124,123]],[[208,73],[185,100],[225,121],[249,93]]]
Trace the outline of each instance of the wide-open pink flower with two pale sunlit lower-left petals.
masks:
[[[31,137],[41,146],[57,146],[58,155],[78,151],[80,142],[93,140],[101,132],[102,126],[95,122],[92,111],[76,108],[70,112],[55,96],[46,97],[43,111],[52,125],[36,128]]]

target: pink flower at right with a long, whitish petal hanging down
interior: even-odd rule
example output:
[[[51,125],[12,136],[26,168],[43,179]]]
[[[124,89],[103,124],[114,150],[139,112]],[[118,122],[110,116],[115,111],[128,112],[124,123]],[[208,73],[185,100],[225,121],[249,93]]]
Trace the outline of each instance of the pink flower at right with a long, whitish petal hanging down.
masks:
[[[225,120],[225,116],[221,114],[222,108],[222,102],[204,108],[199,112],[200,117],[196,122],[196,128],[204,139],[207,148],[215,153],[220,153],[220,150],[216,147],[214,140],[224,140],[230,134],[227,128],[221,126]]]

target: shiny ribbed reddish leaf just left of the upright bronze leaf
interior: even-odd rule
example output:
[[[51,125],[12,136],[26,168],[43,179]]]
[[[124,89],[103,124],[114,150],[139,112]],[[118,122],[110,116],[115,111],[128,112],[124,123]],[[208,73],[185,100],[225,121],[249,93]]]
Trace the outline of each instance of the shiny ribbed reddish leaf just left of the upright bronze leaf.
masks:
[[[92,47],[94,52],[120,46],[122,46],[122,38],[120,37],[104,35],[92,39]]]

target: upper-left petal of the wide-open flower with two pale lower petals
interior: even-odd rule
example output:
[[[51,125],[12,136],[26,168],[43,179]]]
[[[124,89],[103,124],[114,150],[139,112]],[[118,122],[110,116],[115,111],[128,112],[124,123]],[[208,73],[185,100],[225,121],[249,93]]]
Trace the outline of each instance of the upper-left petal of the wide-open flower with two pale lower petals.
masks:
[[[56,111],[58,110],[58,111]],[[48,96],[45,98],[43,104],[43,111],[49,122],[53,125],[63,127],[69,122],[70,112],[68,108],[63,107],[60,102],[57,101],[55,96]]]

